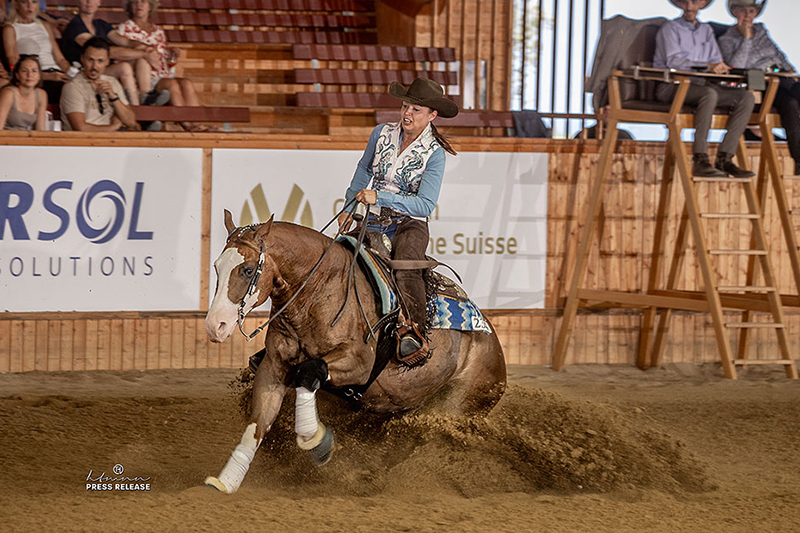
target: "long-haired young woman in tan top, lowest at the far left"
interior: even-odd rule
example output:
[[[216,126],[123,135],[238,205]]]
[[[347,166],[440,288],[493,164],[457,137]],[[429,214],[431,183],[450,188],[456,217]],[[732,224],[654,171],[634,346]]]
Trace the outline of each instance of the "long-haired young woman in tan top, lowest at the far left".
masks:
[[[41,84],[39,59],[20,56],[11,85],[0,91],[0,125],[4,130],[45,130],[47,93],[39,88]]]

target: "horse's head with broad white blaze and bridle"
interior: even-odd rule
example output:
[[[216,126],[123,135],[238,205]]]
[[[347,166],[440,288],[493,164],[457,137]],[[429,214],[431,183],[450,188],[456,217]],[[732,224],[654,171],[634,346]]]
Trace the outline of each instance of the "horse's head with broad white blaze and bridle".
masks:
[[[206,331],[214,342],[227,339],[240,313],[244,317],[266,302],[276,285],[283,284],[277,265],[266,250],[273,218],[263,224],[238,228],[230,211],[225,210],[228,241],[214,261],[217,289],[206,314]]]

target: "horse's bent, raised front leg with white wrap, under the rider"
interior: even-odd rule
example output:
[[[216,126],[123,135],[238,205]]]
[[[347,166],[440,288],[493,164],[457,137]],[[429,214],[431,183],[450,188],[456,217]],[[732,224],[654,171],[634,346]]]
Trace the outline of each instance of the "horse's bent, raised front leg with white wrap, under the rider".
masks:
[[[364,383],[369,377],[359,354],[350,347],[337,349],[325,357],[308,359],[298,365],[295,375],[295,432],[297,445],[306,450],[317,466],[330,460],[333,431],[325,427],[317,413],[317,391],[330,380],[335,386]]]

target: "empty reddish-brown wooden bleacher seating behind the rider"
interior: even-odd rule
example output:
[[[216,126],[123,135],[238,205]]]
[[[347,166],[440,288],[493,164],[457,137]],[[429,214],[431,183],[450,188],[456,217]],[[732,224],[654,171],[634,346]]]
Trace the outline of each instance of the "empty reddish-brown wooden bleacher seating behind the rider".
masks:
[[[460,105],[455,49],[375,44],[375,3],[161,0],[153,21],[181,50],[176,74],[193,80],[204,104],[234,109],[226,114],[224,107],[207,108],[186,120],[202,115],[205,122],[236,123],[246,110],[250,122],[234,128],[362,134],[376,115],[396,119],[398,101],[388,96],[388,85],[409,85],[418,76],[440,83]],[[75,12],[78,0],[53,0],[48,6]],[[122,2],[106,2],[98,17],[112,24],[127,18]],[[191,114],[188,109],[139,112],[161,120]],[[462,112],[438,121],[467,135],[507,135],[511,122],[507,112]]]

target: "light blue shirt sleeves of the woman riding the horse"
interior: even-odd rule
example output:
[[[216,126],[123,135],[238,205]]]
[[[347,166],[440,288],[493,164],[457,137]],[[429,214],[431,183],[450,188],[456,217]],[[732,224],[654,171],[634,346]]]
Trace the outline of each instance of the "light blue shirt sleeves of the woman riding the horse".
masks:
[[[372,130],[369,136],[367,147],[364,154],[356,166],[353,179],[345,193],[345,203],[355,198],[358,191],[366,189],[372,180],[372,162],[375,158],[375,147],[378,144],[381,130],[385,124],[380,124]],[[402,139],[402,133],[401,139]],[[378,191],[378,207],[389,207],[400,213],[405,213],[415,217],[428,217],[439,201],[439,191],[442,188],[442,178],[444,177],[445,154],[444,149],[439,148],[431,154],[425,171],[422,174],[422,181],[416,196],[394,194],[387,191]]]

